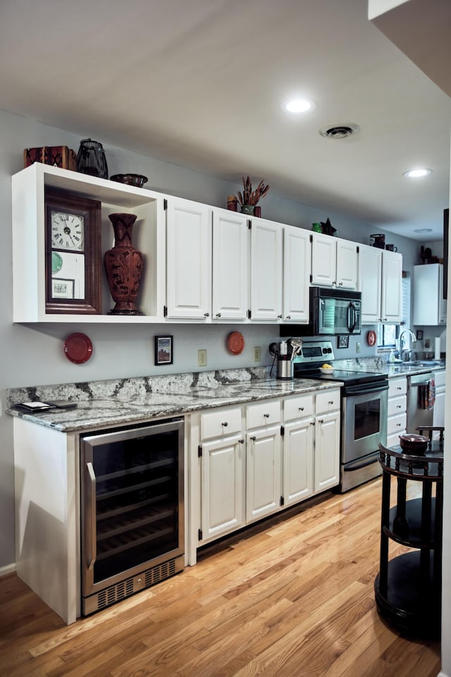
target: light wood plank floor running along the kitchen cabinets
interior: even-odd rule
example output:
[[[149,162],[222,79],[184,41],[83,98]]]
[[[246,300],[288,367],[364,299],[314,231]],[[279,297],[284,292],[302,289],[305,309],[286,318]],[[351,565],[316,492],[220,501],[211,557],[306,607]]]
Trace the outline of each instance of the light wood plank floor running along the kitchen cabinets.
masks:
[[[436,677],[439,643],[376,611],[380,504],[380,480],[327,494],[72,626],[6,576],[0,676]]]

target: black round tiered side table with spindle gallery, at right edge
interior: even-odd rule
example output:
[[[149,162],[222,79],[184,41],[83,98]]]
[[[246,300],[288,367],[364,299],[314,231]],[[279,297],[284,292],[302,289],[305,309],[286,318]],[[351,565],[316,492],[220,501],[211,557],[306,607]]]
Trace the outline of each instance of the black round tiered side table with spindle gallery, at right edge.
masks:
[[[379,444],[383,470],[381,561],[374,582],[378,611],[400,632],[440,638],[442,590],[443,441],[414,456]],[[397,502],[390,508],[390,484]],[[407,481],[422,483],[421,499],[407,501]],[[435,497],[433,496],[435,485]],[[389,539],[409,548],[388,559]]]

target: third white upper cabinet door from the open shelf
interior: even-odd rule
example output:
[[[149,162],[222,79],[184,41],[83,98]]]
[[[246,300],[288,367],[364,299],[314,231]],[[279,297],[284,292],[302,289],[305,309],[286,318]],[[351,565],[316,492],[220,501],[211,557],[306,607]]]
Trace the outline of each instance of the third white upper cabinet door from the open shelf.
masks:
[[[282,228],[254,219],[251,229],[251,318],[282,317]]]

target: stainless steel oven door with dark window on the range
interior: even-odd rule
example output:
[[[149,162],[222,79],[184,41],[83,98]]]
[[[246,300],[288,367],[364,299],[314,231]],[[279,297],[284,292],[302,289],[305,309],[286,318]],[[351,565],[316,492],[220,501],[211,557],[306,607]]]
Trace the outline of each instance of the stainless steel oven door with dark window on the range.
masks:
[[[341,462],[350,463],[378,450],[387,439],[388,382],[362,384],[342,394]]]

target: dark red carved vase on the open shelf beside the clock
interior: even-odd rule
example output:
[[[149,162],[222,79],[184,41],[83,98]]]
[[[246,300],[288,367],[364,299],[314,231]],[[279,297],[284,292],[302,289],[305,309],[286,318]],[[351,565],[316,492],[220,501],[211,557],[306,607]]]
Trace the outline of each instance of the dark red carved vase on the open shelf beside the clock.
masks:
[[[109,315],[142,315],[136,305],[144,259],[132,245],[135,214],[109,214],[114,229],[114,247],[105,252],[106,278],[113,300]]]

